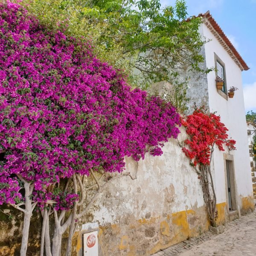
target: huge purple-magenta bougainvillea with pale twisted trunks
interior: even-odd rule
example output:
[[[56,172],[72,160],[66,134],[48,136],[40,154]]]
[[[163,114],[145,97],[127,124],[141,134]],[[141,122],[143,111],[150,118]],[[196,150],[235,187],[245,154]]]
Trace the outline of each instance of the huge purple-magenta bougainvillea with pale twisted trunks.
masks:
[[[131,90],[89,43],[42,26],[9,2],[0,5],[0,83],[0,204],[24,212],[21,255],[35,207],[44,217],[41,241],[48,254],[59,255],[57,240],[81,216],[64,222],[65,212],[84,200],[80,177],[122,172],[125,156],[160,155],[162,143],[179,133],[170,103]],[[71,189],[68,182],[61,189],[61,180]],[[52,213],[49,249],[45,218]]]

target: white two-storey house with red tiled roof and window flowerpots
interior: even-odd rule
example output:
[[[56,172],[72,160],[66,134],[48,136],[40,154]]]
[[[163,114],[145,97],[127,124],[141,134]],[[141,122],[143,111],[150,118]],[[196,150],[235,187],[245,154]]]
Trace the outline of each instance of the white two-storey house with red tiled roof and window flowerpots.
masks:
[[[217,203],[223,205],[227,216],[239,215],[244,209],[253,207],[241,76],[241,72],[249,68],[209,11],[198,17],[203,21],[201,35],[210,40],[202,49],[204,67],[215,67],[216,71],[200,77],[192,76],[188,93],[198,106],[201,103],[210,112],[216,111],[221,116],[221,122],[229,129],[229,136],[236,140],[236,151],[214,151],[212,167],[215,171]],[[221,90],[216,87],[216,76],[224,80]],[[230,99],[228,90],[232,86],[239,90]]]

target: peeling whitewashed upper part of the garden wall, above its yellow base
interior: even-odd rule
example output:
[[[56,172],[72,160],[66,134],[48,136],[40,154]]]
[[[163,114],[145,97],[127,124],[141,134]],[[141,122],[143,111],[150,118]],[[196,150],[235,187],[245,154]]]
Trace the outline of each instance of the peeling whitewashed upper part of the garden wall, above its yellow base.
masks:
[[[185,138],[186,133],[182,129],[178,140],[181,141]],[[126,171],[134,175],[135,169],[136,162],[131,158],[127,159]],[[139,161],[137,180],[131,180],[129,177],[120,178],[111,184],[109,191],[113,203],[118,197],[122,197],[124,200],[121,205],[116,205],[118,209],[112,207],[105,211],[105,207],[102,205],[100,210],[94,213],[94,219],[100,220],[101,224],[116,223],[127,212],[140,219],[145,218],[148,212],[151,216],[159,216],[164,211],[180,212],[192,209],[195,205],[197,207],[204,205],[198,175],[189,165],[189,160],[177,145],[177,140],[174,139],[165,143],[161,156],[153,157],[146,154],[145,159]],[[172,203],[170,203],[169,209],[164,209],[168,194]],[[143,209],[140,207],[142,202],[145,204]],[[102,204],[100,197],[98,203]],[[102,219],[103,215],[104,219]]]

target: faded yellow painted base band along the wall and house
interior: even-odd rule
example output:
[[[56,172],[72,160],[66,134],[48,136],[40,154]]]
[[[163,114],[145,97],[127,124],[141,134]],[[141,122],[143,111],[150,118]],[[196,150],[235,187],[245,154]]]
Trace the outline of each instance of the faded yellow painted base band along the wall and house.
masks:
[[[241,198],[242,212],[254,209],[253,198]],[[227,203],[216,205],[217,225],[228,221]],[[125,217],[124,217],[125,218]],[[129,219],[129,221],[128,221]],[[148,256],[161,249],[177,244],[189,237],[198,236],[209,229],[205,207],[175,212],[166,217],[157,216],[134,220],[127,218],[129,224],[112,224],[99,229],[99,255],[104,256]],[[80,256],[81,236],[76,236],[76,253]]]

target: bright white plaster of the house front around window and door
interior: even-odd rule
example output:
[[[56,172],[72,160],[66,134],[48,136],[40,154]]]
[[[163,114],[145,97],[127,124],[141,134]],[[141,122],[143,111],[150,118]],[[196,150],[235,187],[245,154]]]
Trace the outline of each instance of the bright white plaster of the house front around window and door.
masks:
[[[247,128],[245,120],[244,96],[242,89],[241,70],[233,61],[227,51],[221,46],[215,36],[210,32],[205,24],[202,25],[203,35],[210,42],[205,44],[205,59],[207,67],[215,67],[214,53],[225,64],[227,90],[231,86],[238,87],[233,99],[222,97],[216,89],[215,71],[207,75],[208,93],[209,93],[209,110],[217,111],[221,116],[221,121],[229,129],[228,134],[236,140],[236,151],[226,153],[234,156],[235,174],[237,194],[239,198],[244,198],[252,195],[251,174],[250,174],[250,159],[247,144]],[[226,199],[226,184],[224,172],[223,153],[215,150],[214,152],[214,168],[217,190],[218,203],[227,201]],[[241,200],[238,202],[241,207]]]

